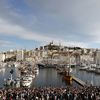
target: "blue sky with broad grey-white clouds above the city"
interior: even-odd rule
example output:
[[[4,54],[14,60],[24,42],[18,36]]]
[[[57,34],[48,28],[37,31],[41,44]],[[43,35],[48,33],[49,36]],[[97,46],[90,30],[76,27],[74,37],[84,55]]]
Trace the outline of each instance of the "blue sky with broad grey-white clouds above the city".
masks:
[[[0,51],[51,41],[100,48],[100,0],[0,0]]]

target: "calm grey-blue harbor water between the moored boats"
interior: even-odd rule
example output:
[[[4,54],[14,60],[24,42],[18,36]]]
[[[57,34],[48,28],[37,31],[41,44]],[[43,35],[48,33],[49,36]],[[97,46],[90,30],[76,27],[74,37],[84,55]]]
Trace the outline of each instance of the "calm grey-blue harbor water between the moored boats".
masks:
[[[4,87],[4,79],[10,77],[10,70],[13,69],[13,79],[19,76],[19,70],[15,67],[0,69],[0,87]],[[88,84],[100,86],[100,75],[80,71],[78,68],[72,69],[72,74]],[[39,69],[39,74],[32,82],[32,87],[65,87],[69,86],[62,75],[57,74],[54,68]],[[72,82],[71,86],[79,86],[76,82]]]

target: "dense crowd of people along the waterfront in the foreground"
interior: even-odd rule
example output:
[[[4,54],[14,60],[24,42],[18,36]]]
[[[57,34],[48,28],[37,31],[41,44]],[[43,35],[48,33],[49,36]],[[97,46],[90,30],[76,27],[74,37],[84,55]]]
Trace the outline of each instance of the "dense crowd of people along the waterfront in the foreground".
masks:
[[[100,87],[0,89],[0,100],[100,100]]]

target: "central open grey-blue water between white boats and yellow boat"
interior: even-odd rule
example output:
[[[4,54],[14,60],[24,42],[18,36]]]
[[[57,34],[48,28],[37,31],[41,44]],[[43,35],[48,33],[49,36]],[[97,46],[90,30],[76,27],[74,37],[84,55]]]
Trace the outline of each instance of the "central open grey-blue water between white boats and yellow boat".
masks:
[[[33,80],[32,86],[42,87],[42,86],[66,86],[65,82],[62,80],[62,76],[57,74],[55,69],[40,69],[39,75]]]

